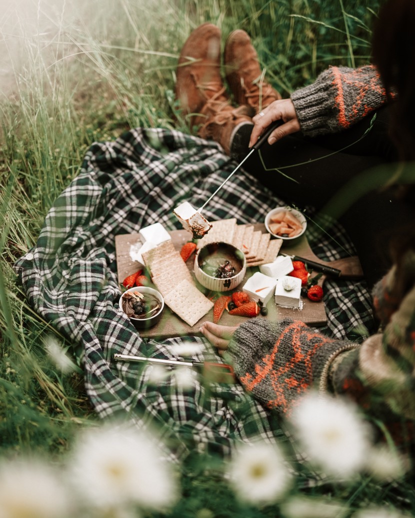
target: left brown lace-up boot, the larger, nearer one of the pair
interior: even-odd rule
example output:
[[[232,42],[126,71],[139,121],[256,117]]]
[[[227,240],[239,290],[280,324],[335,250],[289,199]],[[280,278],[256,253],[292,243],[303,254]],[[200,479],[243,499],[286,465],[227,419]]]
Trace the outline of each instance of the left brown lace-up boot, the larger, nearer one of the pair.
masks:
[[[211,23],[197,27],[188,37],[176,70],[176,99],[190,128],[211,138],[230,153],[233,134],[240,124],[251,123],[246,107],[233,108],[220,76],[220,30]]]

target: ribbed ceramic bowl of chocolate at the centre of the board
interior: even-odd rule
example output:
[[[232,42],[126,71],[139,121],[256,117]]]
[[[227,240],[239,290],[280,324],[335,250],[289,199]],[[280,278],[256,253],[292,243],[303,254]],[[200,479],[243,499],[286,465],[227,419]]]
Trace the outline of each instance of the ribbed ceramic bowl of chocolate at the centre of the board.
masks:
[[[207,243],[198,250],[194,269],[196,279],[208,290],[233,290],[245,277],[245,254],[229,243]]]

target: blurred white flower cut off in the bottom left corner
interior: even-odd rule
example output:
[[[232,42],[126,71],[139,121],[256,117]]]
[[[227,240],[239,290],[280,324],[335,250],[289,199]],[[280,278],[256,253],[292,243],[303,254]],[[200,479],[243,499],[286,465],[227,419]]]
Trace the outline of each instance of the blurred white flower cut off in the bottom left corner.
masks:
[[[71,513],[57,472],[32,459],[0,463],[1,518],[63,518]]]

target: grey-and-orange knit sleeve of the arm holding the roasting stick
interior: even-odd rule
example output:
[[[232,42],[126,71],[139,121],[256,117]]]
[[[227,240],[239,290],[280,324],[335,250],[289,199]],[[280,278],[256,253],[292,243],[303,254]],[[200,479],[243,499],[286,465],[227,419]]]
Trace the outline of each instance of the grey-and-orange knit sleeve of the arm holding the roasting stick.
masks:
[[[386,102],[373,65],[329,67],[309,86],[291,95],[303,134],[310,137],[344,130]]]

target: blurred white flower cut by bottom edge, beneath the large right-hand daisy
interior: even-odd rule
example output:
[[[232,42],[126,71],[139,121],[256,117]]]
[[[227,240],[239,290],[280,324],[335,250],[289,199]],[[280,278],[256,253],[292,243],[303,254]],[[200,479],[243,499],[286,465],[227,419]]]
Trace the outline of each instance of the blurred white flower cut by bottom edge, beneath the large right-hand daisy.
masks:
[[[320,498],[294,496],[281,505],[285,518],[343,518],[349,514],[348,506]]]

